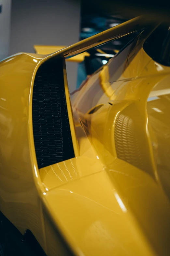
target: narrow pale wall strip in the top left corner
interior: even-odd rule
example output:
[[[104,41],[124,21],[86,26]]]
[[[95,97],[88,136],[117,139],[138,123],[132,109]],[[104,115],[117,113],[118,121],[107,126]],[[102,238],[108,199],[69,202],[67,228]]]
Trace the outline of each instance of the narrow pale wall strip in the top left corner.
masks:
[[[11,0],[0,0],[0,60],[9,55],[10,11]]]

